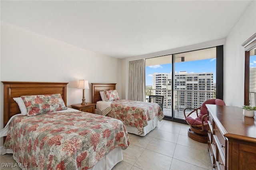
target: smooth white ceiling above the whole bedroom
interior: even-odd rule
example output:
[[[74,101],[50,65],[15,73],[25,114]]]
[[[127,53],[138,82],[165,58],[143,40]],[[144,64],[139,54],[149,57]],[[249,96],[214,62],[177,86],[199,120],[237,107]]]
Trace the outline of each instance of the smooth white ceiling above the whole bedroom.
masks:
[[[250,1],[3,1],[1,21],[126,58],[226,38]]]

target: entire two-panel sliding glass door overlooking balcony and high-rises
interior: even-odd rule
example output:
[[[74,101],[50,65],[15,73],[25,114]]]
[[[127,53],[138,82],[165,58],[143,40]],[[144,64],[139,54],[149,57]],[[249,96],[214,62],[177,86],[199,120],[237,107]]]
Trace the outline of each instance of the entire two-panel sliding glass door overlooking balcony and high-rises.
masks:
[[[146,98],[164,96],[165,119],[184,122],[185,108],[216,98],[217,48],[146,59]]]

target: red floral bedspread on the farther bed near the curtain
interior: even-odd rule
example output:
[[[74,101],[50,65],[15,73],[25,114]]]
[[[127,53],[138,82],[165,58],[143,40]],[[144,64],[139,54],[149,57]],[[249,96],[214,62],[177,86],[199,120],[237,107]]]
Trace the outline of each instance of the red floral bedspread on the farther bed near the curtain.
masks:
[[[156,103],[114,100],[111,107],[109,117],[122,120],[125,125],[136,127],[139,134],[144,133],[143,127],[154,117],[158,116],[159,121],[164,118],[161,107]]]

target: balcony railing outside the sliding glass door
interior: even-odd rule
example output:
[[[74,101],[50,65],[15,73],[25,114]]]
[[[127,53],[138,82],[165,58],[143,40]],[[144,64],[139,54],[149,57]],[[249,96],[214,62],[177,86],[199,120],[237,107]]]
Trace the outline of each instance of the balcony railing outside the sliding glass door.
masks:
[[[172,116],[172,89],[146,89],[146,102],[148,102],[148,96],[150,95],[164,96],[164,115]],[[202,103],[212,98],[216,98],[216,91],[174,90],[175,117],[184,119],[183,110],[185,108],[200,107]]]

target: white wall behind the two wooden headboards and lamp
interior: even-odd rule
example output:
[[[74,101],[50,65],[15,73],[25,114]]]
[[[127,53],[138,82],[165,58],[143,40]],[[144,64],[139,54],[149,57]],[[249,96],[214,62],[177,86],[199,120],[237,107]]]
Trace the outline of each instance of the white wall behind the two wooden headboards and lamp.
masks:
[[[67,106],[82,102],[78,80],[117,83],[122,98],[121,60],[87,51],[1,22],[1,81],[69,82]],[[3,128],[3,84],[0,83],[0,129]],[[91,102],[92,89],[85,90]],[[0,146],[2,146],[2,139]]]

